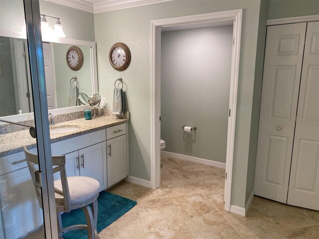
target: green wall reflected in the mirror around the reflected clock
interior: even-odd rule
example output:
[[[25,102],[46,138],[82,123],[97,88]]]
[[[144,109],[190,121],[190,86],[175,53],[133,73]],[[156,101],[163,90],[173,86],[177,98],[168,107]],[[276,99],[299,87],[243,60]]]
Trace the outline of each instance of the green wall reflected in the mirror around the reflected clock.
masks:
[[[78,71],[71,70],[66,63],[66,52],[70,46],[68,44],[51,43],[53,45],[53,61],[56,87],[57,108],[68,107],[68,97],[70,88],[70,79],[77,76],[79,82],[79,92],[87,94],[89,97],[93,94],[92,89],[92,66],[91,49],[88,46],[78,46],[81,48],[84,56],[83,66]]]

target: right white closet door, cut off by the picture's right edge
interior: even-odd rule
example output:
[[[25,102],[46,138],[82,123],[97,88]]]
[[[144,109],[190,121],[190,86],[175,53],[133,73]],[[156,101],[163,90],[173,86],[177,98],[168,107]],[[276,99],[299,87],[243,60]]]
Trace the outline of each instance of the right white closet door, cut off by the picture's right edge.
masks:
[[[319,210],[319,22],[309,22],[288,204]]]

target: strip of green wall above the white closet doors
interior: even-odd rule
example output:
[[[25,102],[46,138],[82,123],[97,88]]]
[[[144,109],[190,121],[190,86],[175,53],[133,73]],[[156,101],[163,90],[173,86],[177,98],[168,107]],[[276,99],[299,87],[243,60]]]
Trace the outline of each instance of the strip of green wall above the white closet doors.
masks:
[[[268,19],[319,14],[319,0],[269,0]]]

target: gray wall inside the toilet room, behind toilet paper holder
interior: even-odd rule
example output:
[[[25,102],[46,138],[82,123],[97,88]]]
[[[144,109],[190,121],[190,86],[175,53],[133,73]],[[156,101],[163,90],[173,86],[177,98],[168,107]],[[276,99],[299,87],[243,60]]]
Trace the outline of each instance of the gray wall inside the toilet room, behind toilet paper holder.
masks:
[[[165,151],[226,162],[232,39],[232,25],[162,32]]]

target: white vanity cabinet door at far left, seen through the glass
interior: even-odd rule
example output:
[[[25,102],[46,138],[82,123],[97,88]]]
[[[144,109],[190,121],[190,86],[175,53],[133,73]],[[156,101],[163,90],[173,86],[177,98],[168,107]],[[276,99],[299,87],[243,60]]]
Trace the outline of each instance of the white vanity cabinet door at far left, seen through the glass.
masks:
[[[22,168],[0,176],[7,185],[7,196],[1,194],[0,213],[8,239],[24,236],[43,223],[29,169]],[[1,229],[2,230],[2,229]]]

